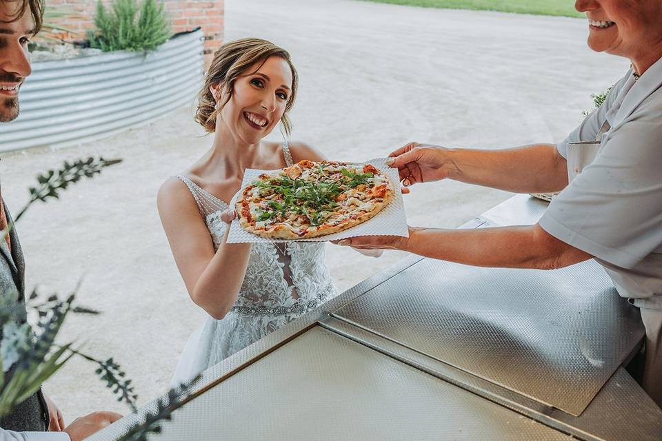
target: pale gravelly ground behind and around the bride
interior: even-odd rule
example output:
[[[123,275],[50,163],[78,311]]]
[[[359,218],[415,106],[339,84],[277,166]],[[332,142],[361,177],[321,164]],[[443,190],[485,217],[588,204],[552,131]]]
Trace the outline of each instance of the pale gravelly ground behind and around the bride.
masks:
[[[330,158],[385,156],[408,141],[508,147],[563,139],[624,59],[585,45],[582,19],[435,10],[348,0],[227,0],[225,37],[263,37],[290,50],[301,74],[294,139]],[[173,85],[176,87],[177,85]],[[72,316],[62,342],[114,356],[139,403],[163,393],[189,334],[205,313],[192,304],[162,232],[159,185],[208,149],[183,107],[149,125],[61,150],[3,154],[3,196],[14,212],[34,175],[88,155],[124,162],[32,207],[18,225],[27,285],[68,293],[103,311]],[[412,225],[455,227],[510,196],[455,182],[421,185],[405,198]],[[328,247],[341,289],[401,258]],[[70,422],[97,409],[126,412],[82,360],[44,389]]]

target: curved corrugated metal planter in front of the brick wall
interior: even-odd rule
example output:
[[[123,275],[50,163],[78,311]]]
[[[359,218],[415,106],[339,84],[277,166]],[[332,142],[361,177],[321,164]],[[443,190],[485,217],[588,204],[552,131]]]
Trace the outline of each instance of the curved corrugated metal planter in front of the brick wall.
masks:
[[[19,94],[19,117],[0,125],[0,151],[88,141],[192,103],[203,64],[201,30],[147,54],[34,63]]]

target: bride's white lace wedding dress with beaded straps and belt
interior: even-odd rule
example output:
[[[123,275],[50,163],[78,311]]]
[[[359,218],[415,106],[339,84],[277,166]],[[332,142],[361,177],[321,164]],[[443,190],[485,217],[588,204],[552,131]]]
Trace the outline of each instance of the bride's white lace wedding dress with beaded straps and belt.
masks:
[[[283,153],[292,165],[286,143]],[[190,189],[218,249],[228,227],[220,215],[228,204],[189,178],[177,178]],[[223,319],[208,317],[192,334],[171,386],[190,380],[337,294],[325,264],[324,243],[254,243],[237,301]]]

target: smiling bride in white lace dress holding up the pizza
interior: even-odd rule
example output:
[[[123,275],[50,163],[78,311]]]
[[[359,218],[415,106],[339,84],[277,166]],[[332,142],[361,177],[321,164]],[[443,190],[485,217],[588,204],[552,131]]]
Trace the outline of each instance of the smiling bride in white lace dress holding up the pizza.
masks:
[[[225,243],[228,201],[246,168],[279,169],[322,155],[304,143],[263,141],[297,94],[290,54],[241,39],[214,54],[196,121],[214,133],[197,162],[161,186],[159,216],[191,299],[210,315],[188,340],[173,384],[217,364],[337,295],[323,243]]]

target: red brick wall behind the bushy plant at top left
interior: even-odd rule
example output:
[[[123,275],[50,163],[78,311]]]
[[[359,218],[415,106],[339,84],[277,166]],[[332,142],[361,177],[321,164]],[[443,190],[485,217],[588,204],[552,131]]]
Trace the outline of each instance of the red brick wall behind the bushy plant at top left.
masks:
[[[205,33],[205,52],[211,54],[223,43],[223,0],[182,1],[161,0],[172,21],[172,32],[192,30],[198,26]],[[140,2],[140,0],[139,0]],[[110,0],[103,0],[107,5]],[[94,28],[92,21],[97,10],[94,0],[46,0],[46,5],[65,8],[74,12],[71,17],[58,21],[72,31],[69,39],[83,39],[88,29]],[[210,56],[208,55],[207,58]]]

